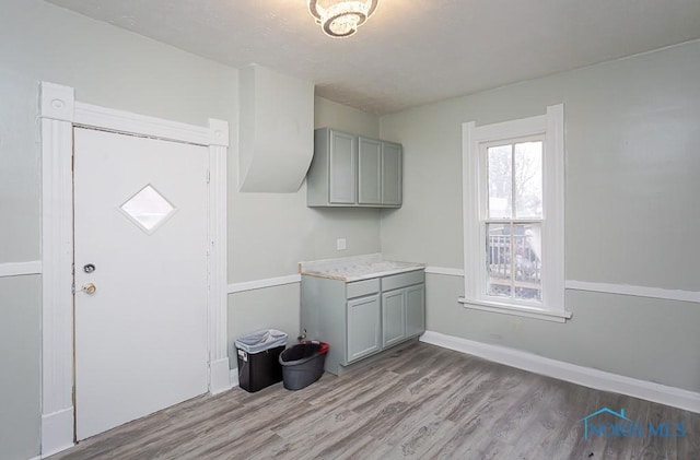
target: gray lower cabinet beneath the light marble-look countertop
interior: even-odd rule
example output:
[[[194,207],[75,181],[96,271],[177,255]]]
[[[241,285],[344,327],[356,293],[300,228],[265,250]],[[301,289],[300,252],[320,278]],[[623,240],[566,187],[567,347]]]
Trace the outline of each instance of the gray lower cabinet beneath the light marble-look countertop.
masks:
[[[302,275],[301,328],[328,342],[326,370],[340,374],[425,331],[425,274],[415,270],[357,282]]]

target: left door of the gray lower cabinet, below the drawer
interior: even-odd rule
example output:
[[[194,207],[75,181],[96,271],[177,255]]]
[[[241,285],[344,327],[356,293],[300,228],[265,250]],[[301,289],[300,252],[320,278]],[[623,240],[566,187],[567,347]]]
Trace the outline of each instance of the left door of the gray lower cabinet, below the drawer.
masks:
[[[348,300],[348,363],[381,350],[381,321],[378,294]]]

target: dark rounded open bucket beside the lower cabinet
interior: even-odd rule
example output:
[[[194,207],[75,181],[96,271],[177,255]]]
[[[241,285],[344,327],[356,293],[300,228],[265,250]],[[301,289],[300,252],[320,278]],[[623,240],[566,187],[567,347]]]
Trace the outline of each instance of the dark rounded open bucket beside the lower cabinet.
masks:
[[[290,346],[280,354],[282,381],[288,390],[301,390],[318,380],[324,374],[328,344],[304,341]]]

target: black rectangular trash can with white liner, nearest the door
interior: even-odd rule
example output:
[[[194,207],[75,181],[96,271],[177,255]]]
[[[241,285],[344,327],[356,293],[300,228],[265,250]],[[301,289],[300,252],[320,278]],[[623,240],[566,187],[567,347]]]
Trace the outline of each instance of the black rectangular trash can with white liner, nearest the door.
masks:
[[[287,346],[287,334],[266,329],[235,341],[238,362],[238,386],[254,393],[282,380],[280,353]]]

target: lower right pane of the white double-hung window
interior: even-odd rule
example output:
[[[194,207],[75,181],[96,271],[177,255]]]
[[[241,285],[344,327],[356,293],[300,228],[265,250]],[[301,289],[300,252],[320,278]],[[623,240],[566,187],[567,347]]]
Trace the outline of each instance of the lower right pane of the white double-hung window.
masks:
[[[513,285],[516,299],[541,300],[541,225],[513,225]]]

